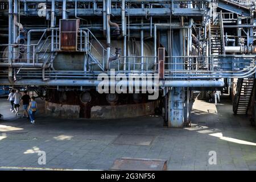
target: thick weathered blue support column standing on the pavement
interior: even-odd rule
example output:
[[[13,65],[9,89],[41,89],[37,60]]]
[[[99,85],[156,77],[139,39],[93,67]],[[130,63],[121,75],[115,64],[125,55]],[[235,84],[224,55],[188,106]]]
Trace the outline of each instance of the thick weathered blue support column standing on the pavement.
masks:
[[[184,88],[174,87],[168,92],[168,127],[184,125]]]

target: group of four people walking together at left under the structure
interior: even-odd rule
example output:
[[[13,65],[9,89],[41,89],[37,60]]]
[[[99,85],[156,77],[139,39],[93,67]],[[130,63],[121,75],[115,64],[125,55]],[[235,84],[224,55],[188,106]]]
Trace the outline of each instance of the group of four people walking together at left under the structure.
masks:
[[[23,92],[23,95],[19,92],[17,89],[16,91],[14,89],[11,90],[8,100],[10,101],[11,108],[10,111],[12,113],[15,113],[18,115],[19,113],[19,107],[20,104],[23,106],[23,118],[30,119],[30,122],[32,124],[35,123],[35,112],[38,110],[38,105],[36,104],[35,97],[28,96],[27,90]]]

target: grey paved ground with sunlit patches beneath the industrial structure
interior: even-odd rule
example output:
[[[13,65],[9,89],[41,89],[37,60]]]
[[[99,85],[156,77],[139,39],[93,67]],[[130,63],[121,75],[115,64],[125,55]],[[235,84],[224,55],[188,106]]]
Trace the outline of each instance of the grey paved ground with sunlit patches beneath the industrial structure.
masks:
[[[15,118],[0,100],[0,166],[109,169],[122,157],[168,160],[169,170],[256,170],[256,130],[232,105],[196,100],[192,127],[167,129],[151,115],[108,121]],[[46,152],[46,165],[38,152]],[[217,164],[208,163],[216,151]]]

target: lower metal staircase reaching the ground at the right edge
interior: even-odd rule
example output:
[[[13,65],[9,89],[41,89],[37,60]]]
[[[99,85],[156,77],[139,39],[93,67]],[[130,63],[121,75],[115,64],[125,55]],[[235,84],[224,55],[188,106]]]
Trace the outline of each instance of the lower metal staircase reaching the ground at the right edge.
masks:
[[[235,114],[247,114],[247,110],[253,93],[254,78],[240,78],[237,82],[237,94],[235,97]]]

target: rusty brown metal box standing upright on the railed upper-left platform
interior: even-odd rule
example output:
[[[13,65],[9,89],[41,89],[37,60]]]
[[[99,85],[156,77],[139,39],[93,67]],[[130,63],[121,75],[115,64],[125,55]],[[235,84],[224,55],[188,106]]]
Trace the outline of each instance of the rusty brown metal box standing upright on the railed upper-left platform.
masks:
[[[60,19],[60,49],[61,51],[77,50],[78,19]]]

